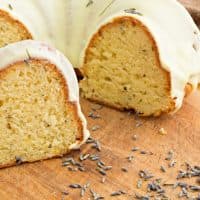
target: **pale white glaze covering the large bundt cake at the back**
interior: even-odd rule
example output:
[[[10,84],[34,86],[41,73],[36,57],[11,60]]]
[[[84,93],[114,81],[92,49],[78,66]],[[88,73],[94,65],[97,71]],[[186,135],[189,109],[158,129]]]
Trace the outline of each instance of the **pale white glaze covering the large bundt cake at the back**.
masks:
[[[20,20],[36,40],[61,50],[81,67],[89,39],[115,17],[141,21],[154,37],[162,67],[170,72],[171,97],[178,110],[187,83],[200,82],[200,32],[176,0],[0,0],[0,9]],[[9,9],[9,4],[13,9]],[[125,13],[135,8],[142,16]],[[194,49],[195,48],[195,49]]]

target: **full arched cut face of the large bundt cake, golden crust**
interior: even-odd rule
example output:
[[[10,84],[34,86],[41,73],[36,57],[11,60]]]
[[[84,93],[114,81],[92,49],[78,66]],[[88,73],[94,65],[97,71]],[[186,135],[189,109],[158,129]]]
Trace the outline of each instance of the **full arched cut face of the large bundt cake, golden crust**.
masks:
[[[131,17],[102,27],[86,50],[80,83],[85,98],[140,115],[172,109],[170,76],[160,67],[151,34]]]

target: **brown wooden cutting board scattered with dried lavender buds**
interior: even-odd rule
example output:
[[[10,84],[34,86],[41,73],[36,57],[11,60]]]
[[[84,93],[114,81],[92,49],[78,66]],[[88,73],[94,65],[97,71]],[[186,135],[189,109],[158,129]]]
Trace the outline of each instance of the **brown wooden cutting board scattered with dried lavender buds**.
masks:
[[[200,8],[199,0],[184,0],[188,9],[196,13]],[[194,2],[191,4],[191,2]],[[197,16],[195,14],[195,16]],[[198,18],[198,17],[197,17]],[[82,100],[86,116],[94,103]],[[76,161],[81,154],[97,154],[106,165],[112,166],[107,175],[101,175],[95,161],[83,161],[85,172],[70,171],[62,167],[62,159],[53,159],[0,170],[0,200],[78,200],[92,199],[89,189],[84,197],[80,197],[80,189],[71,189],[70,184],[90,183],[90,189],[101,194],[105,199],[134,199],[135,193],[146,194],[147,184],[161,178],[163,183],[175,183],[178,170],[185,170],[185,162],[191,166],[200,165],[200,92],[196,92],[185,100],[183,108],[174,116],[161,118],[138,118],[128,112],[119,112],[103,107],[93,111],[100,118],[88,118],[92,137],[101,144],[101,151],[92,148],[92,144],[84,145],[80,151],[67,157]],[[99,129],[98,129],[99,128]],[[159,130],[164,128],[166,134]],[[98,129],[96,131],[92,131]],[[139,150],[132,152],[134,147]],[[137,149],[136,149],[137,150]],[[173,151],[171,161],[165,160],[168,152]],[[133,159],[128,161],[127,157]],[[169,167],[176,161],[174,167]],[[162,172],[163,166],[166,172]],[[74,167],[73,167],[74,169]],[[143,181],[138,188],[139,171],[148,170],[154,177]],[[102,177],[106,177],[102,183]],[[198,185],[197,178],[179,180]],[[164,187],[170,199],[178,199],[180,187],[172,189]],[[111,197],[111,193],[123,190],[127,194]],[[62,192],[69,193],[64,195]],[[155,194],[155,193],[151,193]],[[197,196],[197,192],[191,193]],[[153,198],[152,198],[153,199]]]

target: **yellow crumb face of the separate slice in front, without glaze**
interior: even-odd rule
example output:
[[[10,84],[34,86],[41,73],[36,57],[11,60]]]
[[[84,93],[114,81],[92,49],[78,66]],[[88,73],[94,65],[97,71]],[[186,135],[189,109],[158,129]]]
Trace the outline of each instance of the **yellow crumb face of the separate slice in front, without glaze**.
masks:
[[[81,137],[63,76],[46,60],[15,63],[0,72],[0,166],[68,152]]]

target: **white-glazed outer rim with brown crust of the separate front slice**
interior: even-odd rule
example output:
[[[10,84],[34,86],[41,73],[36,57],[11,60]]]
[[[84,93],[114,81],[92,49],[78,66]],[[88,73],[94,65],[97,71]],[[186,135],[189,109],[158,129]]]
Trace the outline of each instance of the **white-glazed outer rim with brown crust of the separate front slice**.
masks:
[[[10,55],[10,57],[6,56]],[[79,124],[79,129],[81,135],[74,144],[71,144],[68,150],[62,155],[50,156],[42,160],[47,160],[50,158],[63,157],[71,150],[76,150],[83,145],[90,136],[89,130],[87,129],[87,121],[81,111],[80,103],[79,103],[79,89],[78,81],[76,79],[75,72],[70,64],[70,62],[62,55],[59,51],[51,48],[49,45],[33,41],[33,40],[25,40],[17,43],[9,44],[6,47],[0,49],[0,57],[2,60],[0,61],[0,73],[5,70],[9,70],[9,66],[18,63],[24,62],[24,60],[32,59],[32,60],[47,60],[50,64],[54,65],[59,72],[59,75],[62,77],[62,81],[65,85],[65,98],[68,103],[73,107],[75,119]],[[37,162],[39,160],[27,161]],[[23,162],[23,163],[26,163]],[[0,165],[0,168],[5,168],[9,166],[17,165],[16,162],[10,162],[7,164]]]

